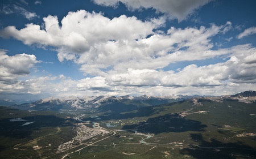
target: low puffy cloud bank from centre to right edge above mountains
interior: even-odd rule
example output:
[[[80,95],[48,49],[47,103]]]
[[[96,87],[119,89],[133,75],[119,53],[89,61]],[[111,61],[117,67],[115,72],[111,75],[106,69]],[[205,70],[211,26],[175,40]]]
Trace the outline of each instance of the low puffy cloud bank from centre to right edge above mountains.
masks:
[[[223,86],[227,81],[232,83],[256,83],[255,48],[250,45],[238,45],[218,51],[220,54],[233,54],[229,54],[229,60],[223,63],[200,67],[193,64],[178,72],[129,68],[126,72],[115,72],[109,75],[106,80],[109,85],[154,87]]]

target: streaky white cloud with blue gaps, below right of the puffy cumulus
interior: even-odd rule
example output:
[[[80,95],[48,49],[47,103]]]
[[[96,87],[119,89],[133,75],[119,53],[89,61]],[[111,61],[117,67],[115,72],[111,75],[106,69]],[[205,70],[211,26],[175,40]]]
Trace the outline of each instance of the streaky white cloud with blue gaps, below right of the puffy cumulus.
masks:
[[[210,38],[222,33],[224,29],[226,25],[199,29],[171,28],[167,35],[155,33],[137,41],[102,42],[94,44],[87,53],[81,54],[76,62],[81,64],[81,71],[105,76],[101,68],[113,67],[116,71],[127,68],[157,69],[179,61],[213,58],[228,54],[225,50],[210,50],[213,47]]]

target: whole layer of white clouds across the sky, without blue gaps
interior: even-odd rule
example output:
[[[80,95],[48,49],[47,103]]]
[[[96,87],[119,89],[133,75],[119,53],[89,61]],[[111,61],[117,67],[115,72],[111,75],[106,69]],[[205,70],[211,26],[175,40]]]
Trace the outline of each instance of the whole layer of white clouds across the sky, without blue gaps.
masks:
[[[144,1],[138,2],[143,6]],[[207,2],[198,1],[197,7],[190,10]],[[103,1],[97,3],[111,5]],[[112,5],[115,3],[112,1]],[[179,15],[179,18],[184,19],[187,15]],[[10,57],[2,51],[2,91],[47,92],[61,96],[81,95],[84,91],[96,95],[163,95],[170,91],[195,94],[195,90],[199,94],[218,94],[218,91],[225,92],[225,88],[235,90],[242,85],[247,89],[256,83],[256,49],[253,46],[214,47],[212,39],[229,32],[233,28],[231,22],[210,27],[171,27],[163,32],[159,29],[166,22],[163,17],[142,21],[135,16],[122,15],[109,19],[102,13],[80,10],[69,12],[61,24],[57,16],[49,15],[43,20],[44,28],[32,23],[23,29],[9,26],[0,36],[13,37],[26,45],[54,48],[60,62],[75,62],[80,71],[91,78],[73,80],[63,75],[49,75],[18,81],[19,76],[29,74],[30,68],[38,63],[35,55]],[[238,38],[254,33],[254,29],[246,29]],[[222,62],[205,66],[192,64],[177,70],[166,68],[173,63],[212,58],[222,59]],[[13,82],[7,83],[10,79]]]

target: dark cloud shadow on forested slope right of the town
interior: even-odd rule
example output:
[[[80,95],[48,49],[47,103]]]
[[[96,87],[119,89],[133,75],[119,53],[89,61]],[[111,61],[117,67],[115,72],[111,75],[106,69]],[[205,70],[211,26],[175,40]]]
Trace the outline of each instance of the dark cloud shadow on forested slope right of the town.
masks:
[[[139,132],[150,132],[159,134],[162,132],[185,132],[185,131],[204,131],[207,127],[199,121],[181,118],[178,113],[160,115],[149,118],[146,122],[123,126],[123,130],[135,129]]]

